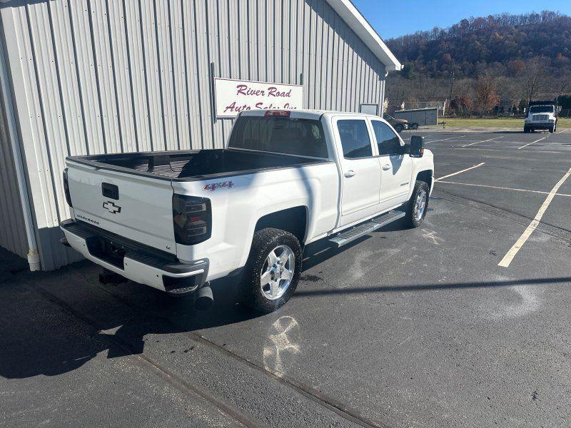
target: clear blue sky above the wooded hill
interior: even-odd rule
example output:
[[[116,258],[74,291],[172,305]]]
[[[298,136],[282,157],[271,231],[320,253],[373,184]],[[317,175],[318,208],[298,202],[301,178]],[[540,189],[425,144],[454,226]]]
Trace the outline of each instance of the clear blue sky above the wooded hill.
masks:
[[[571,15],[571,0],[352,0],[383,39],[447,27],[470,16],[549,9]]]

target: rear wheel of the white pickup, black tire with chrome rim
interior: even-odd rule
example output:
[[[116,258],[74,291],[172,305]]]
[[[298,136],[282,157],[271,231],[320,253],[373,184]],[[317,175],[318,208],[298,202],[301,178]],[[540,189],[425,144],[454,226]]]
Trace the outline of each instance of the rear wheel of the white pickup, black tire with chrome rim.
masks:
[[[244,272],[244,303],[267,314],[290,300],[301,275],[301,254],[299,240],[291,233],[274,228],[258,230]]]

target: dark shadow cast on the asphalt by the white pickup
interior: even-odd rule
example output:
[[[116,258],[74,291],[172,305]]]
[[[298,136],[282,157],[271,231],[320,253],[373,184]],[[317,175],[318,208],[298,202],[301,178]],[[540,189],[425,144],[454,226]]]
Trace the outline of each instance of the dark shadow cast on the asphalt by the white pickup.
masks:
[[[402,229],[395,222],[374,233]],[[308,245],[304,270],[369,238],[342,248],[331,248],[327,240]],[[171,297],[134,282],[101,285],[98,272],[96,265],[82,261],[55,272],[19,272],[1,283],[0,376],[56,376],[79,369],[101,352],[107,358],[141,355],[150,335],[165,335],[162,342],[183,333],[192,343],[201,340],[197,330],[262,316],[238,303],[239,276],[211,282],[214,305],[200,312],[191,296]]]

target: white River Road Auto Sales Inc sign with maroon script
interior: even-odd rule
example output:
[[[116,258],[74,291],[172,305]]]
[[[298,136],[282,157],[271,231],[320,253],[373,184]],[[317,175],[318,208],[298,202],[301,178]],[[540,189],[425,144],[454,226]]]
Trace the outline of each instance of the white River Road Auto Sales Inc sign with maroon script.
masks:
[[[215,78],[216,117],[234,118],[241,111],[303,108],[303,86]]]

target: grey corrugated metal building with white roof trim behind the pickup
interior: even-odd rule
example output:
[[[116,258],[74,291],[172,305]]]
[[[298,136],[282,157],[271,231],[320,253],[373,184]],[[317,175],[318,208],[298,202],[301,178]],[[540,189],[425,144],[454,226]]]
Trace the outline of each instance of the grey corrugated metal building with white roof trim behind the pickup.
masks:
[[[0,0],[0,246],[78,260],[66,156],[222,147],[213,78],[303,85],[303,108],[382,113],[400,63],[349,0]]]

